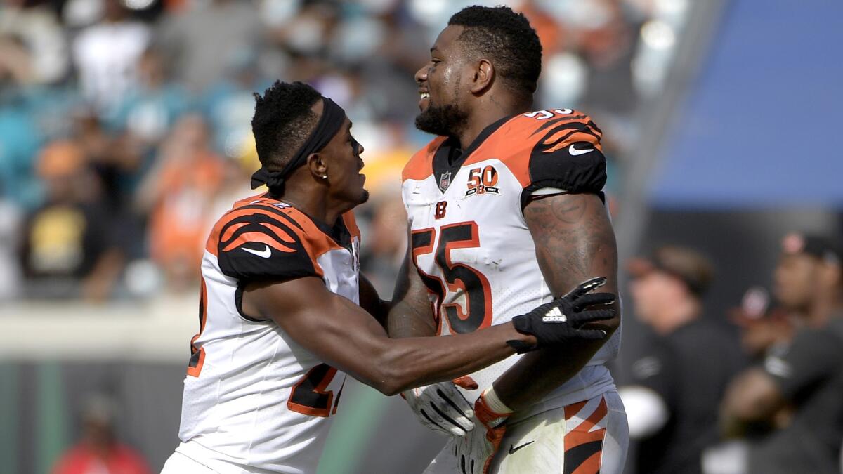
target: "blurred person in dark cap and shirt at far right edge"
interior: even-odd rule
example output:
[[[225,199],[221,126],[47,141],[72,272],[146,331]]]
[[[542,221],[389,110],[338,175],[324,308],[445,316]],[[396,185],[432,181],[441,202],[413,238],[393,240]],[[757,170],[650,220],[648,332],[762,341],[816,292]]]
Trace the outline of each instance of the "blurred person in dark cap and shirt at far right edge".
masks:
[[[843,440],[843,268],[840,245],[789,234],[776,267],[776,299],[802,326],[760,367],[729,385],[726,434],[776,427],[749,447],[749,472],[839,472]]]

